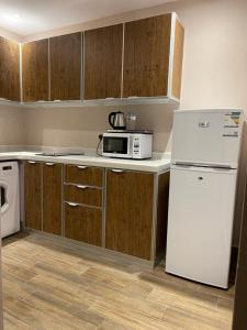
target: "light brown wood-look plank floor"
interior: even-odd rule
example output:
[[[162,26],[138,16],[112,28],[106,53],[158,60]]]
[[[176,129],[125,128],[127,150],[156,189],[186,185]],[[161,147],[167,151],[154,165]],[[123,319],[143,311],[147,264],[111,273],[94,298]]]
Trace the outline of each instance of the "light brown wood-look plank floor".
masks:
[[[234,288],[221,290],[37,234],[3,241],[4,329],[227,330]]]

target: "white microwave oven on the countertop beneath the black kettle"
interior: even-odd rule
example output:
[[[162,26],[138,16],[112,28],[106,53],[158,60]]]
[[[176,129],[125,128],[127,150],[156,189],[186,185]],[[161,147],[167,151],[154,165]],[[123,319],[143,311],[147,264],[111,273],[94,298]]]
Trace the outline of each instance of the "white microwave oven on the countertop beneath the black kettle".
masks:
[[[103,156],[145,160],[151,157],[151,150],[153,133],[103,133]]]

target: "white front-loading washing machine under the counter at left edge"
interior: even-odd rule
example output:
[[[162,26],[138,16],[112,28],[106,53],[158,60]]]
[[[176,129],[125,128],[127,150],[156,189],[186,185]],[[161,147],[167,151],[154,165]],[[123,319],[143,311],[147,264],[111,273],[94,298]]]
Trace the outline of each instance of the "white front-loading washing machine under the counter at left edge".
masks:
[[[0,163],[1,238],[20,231],[20,177],[18,162]]]

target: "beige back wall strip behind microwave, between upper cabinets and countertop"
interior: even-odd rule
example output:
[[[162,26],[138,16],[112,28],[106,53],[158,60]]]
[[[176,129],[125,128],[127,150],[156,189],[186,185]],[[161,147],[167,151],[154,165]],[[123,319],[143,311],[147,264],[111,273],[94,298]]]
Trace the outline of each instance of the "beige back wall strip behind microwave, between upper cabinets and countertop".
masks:
[[[155,151],[169,151],[172,109],[160,105],[25,109],[26,140],[32,145],[96,148],[99,134],[110,129],[109,113],[121,110],[137,114],[137,128],[155,131]]]

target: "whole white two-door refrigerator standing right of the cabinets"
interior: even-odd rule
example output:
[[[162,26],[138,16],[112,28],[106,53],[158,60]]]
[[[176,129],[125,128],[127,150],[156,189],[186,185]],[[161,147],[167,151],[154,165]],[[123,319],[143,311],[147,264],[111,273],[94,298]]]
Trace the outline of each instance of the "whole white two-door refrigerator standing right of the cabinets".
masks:
[[[166,272],[227,288],[243,111],[175,111]]]

